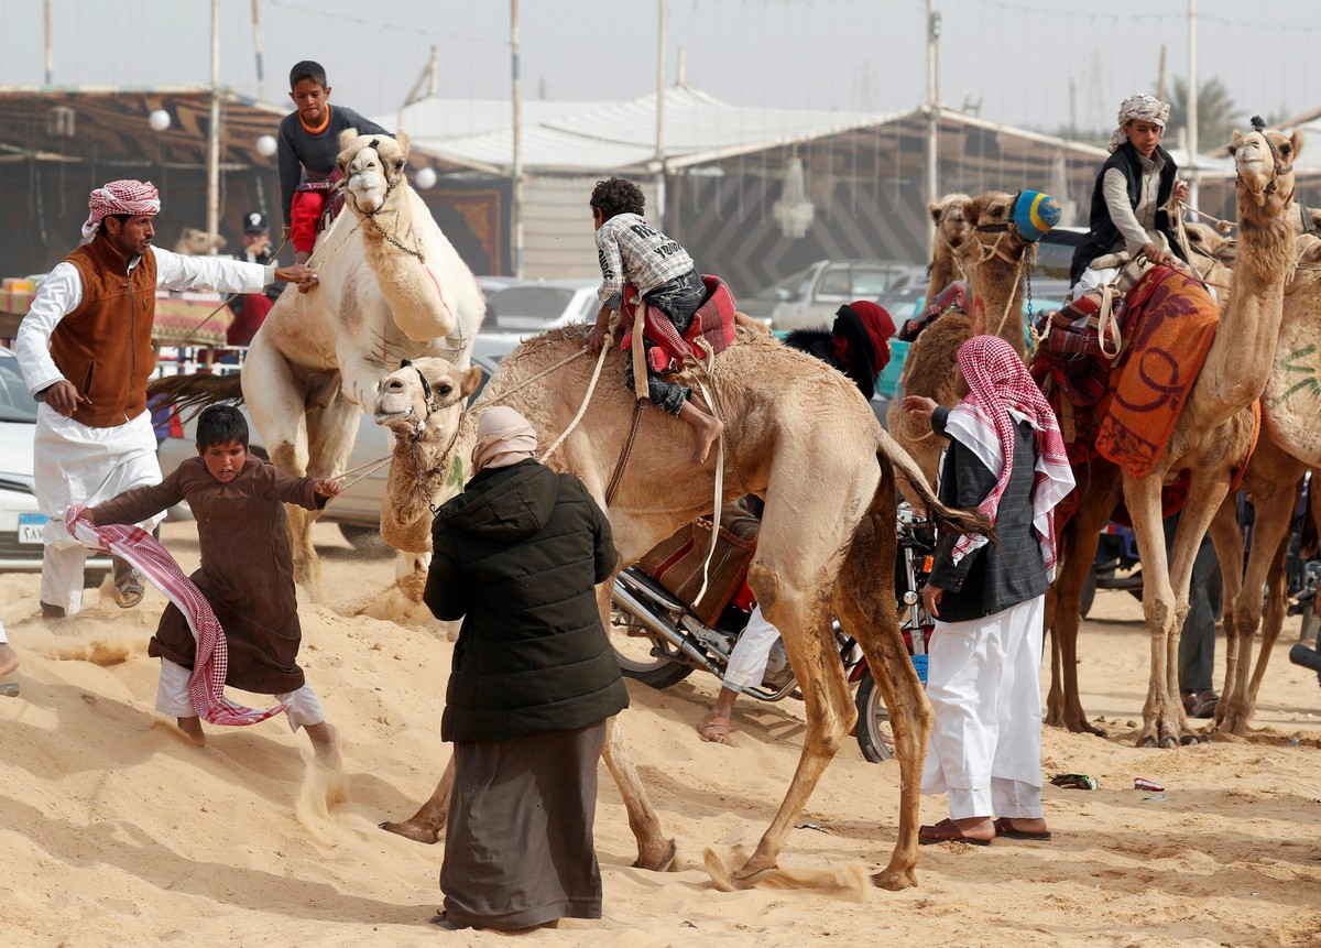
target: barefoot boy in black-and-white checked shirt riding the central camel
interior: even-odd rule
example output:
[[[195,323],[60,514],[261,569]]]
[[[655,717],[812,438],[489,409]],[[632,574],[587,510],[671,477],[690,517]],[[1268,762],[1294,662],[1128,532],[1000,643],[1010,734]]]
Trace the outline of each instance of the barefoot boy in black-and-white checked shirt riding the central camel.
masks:
[[[666,314],[679,335],[692,325],[692,317],[707,297],[707,289],[692,257],[676,242],[642,219],[646,198],[642,189],[624,178],[598,181],[592,190],[592,220],[596,250],[601,260],[601,312],[588,341],[593,358],[600,355],[609,331],[612,310],[624,305],[624,285],[633,284],[647,306]],[[634,387],[633,363],[625,360],[624,382]],[[647,368],[647,396],[692,428],[692,462],[703,463],[724,424],[691,403],[691,389],[668,382]]]

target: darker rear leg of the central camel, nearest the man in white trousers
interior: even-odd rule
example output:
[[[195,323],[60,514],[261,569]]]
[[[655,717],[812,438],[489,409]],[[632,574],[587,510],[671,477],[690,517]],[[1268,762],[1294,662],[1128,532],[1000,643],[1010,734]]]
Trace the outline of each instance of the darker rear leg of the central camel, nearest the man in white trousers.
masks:
[[[835,614],[863,647],[894,729],[894,757],[900,763],[898,837],[889,865],[872,877],[875,885],[894,891],[917,885],[922,766],[934,724],[931,704],[900,631],[894,590],[889,582],[877,581],[894,576],[893,565],[886,569],[885,564],[894,562],[896,545],[893,474],[886,471],[840,570]]]

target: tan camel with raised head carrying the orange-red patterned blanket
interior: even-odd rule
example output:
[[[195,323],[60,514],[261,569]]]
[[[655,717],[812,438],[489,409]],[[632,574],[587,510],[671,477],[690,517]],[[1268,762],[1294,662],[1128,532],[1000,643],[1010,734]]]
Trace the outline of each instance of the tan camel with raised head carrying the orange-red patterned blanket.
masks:
[[[1225,499],[1231,471],[1247,462],[1252,441],[1251,405],[1266,388],[1284,310],[1284,287],[1293,267],[1293,161],[1301,135],[1276,129],[1234,133],[1230,152],[1239,246],[1230,301],[1188,396],[1165,453],[1141,478],[1123,475],[1124,500],[1143,561],[1143,613],[1151,632],[1151,680],[1143,706],[1140,746],[1178,746],[1189,734],[1178,694],[1178,636],[1188,615],[1193,559]],[[1186,470],[1188,502],[1165,557],[1161,486]],[[1223,557],[1227,551],[1218,549]]]

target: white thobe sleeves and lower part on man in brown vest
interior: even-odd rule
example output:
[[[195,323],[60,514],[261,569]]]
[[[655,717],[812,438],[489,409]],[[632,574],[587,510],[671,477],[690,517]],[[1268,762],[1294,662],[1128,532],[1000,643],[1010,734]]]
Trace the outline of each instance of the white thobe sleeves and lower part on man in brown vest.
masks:
[[[157,247],[156,285],[162,289],[214,287],[231,293],[256,293],[275,280],[275,267],[217,256],[182,256]],[[137,265],[137,259],[127,269]],[[82,302],[82,277],[62,261],[41,284],[22,317],[15,353],[24,383],[34,397],[65,376],[50,358],[55,326]],[[98,504],[129,487],[160,483],[156,436],[151,412],[114,428],[92,428],[58,415],[42,401],[37,408],[33,479],[37,503],[50,520],[42,540],[41,601],[73,615],[82,607],[82,574],[87,551],[65,529],[70,504]],[[152,529],[160,518],[141,523]]]

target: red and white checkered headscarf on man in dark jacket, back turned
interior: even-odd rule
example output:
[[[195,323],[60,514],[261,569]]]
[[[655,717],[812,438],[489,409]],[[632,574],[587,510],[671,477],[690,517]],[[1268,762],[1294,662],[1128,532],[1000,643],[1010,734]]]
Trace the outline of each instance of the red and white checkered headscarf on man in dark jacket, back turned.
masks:
[[[959,346],[959,368],[971,389],[948,415],[946,432],[966,445],[988,470],[996,473],[995,487],[978,506],[978,512],[996,522],[1000,498],[1013,469],[1015,425],[1026,421],[1036,432],[1037,462],[1032,483],[1032,525],[1041,543],[1041,557],[1052,578],[1055,570],[1054,507],[1074,487],[1073,469],[1065,454],[1055,413],[1028,374],[1028,367],[1004,339],[975,335]],[[954,561],[984,544],[984,536],[960,536],[954,544]]]

